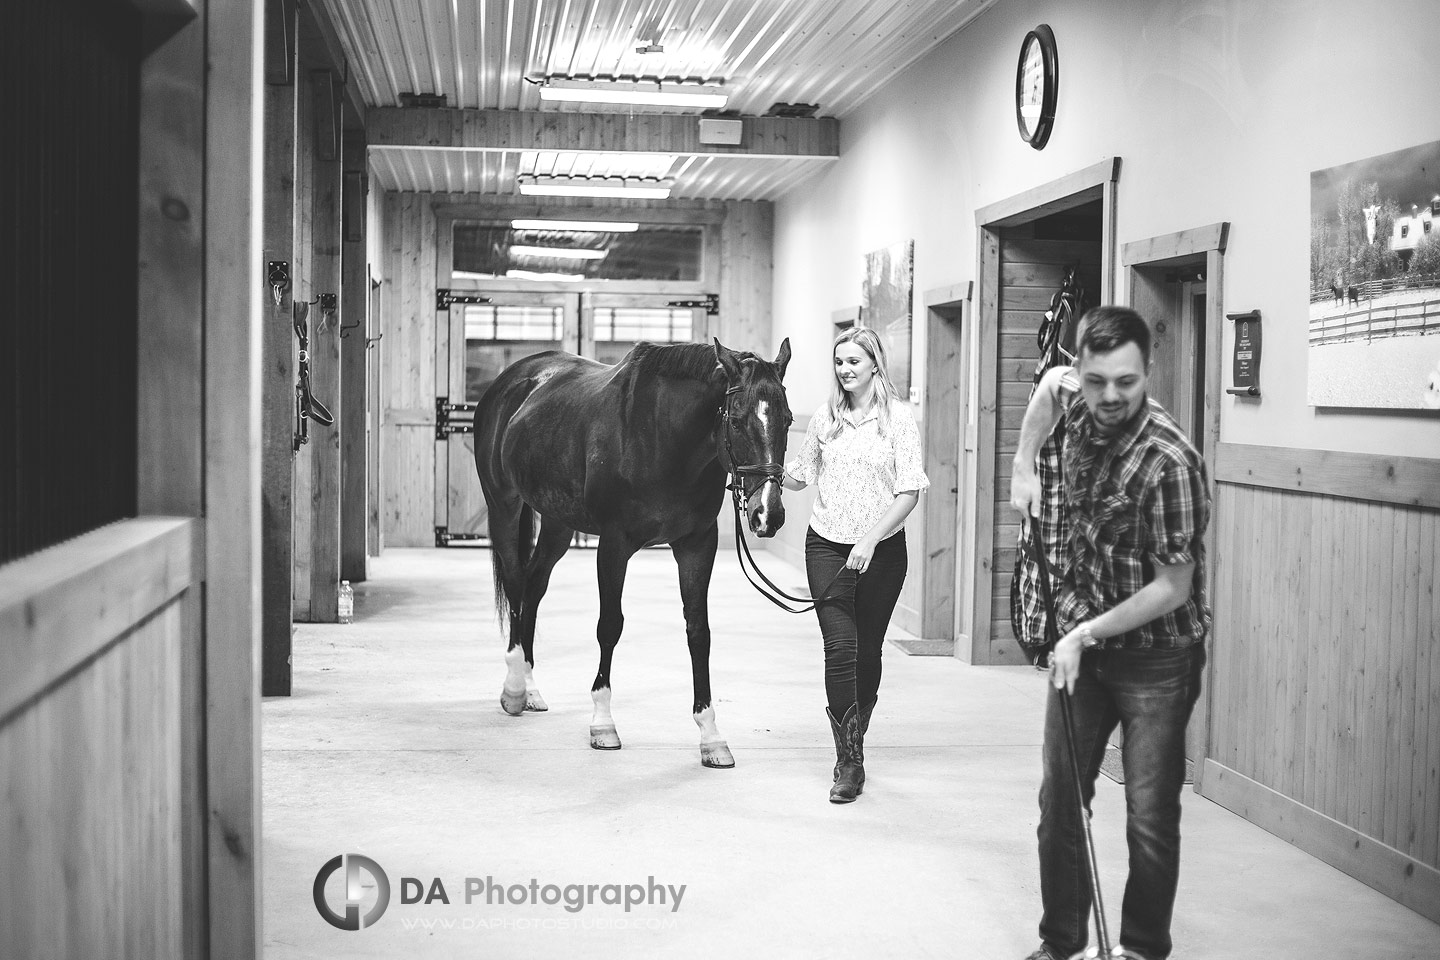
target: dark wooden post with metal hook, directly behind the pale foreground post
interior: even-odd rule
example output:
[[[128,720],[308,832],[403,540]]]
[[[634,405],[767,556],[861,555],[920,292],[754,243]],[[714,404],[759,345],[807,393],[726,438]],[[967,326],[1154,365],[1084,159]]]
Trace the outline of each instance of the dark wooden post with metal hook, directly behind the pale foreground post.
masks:
[[[289,697],[291,596],[294,593],[294,435],[295,435],[295,331],[291,325],[295,271],[295,6],[268,3],[271,36],[279,43],[289,71],[276,72],[284,83],[265,88],[265,331],[261,350],[261,692]],[[271,271],[284,269],[289,282],[275,302]]]

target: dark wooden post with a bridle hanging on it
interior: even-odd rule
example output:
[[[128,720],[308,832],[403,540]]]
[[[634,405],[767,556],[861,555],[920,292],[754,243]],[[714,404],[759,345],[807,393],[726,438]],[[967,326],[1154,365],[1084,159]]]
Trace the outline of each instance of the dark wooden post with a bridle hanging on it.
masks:
[[[331,71],[311,72],[314,95],[314,219],[311,284],[318,299],[310,318],[310,383],[315,400],[336,417],[334,426],[311,423],[311,551],[310,619],[334,623],[340,589],[340,193],[343,164],[334,137],[338,112]],[[325,158],[328,157],[328,158]],[[333,298],[327,301],[327,298]],[[307,544],[300,544],[307,548]]]

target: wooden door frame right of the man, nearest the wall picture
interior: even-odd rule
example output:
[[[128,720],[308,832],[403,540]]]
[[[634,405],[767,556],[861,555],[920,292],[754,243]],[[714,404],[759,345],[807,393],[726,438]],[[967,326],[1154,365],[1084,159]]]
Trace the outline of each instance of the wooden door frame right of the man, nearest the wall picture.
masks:
[[[1202,348],[1205,354],[1205,377],[1201,384],[1204,390],[1204,430],[1201,430],[1201,435],[1194,438],[1194,440],[1200,448],[1201,456],[1205,458],[1205,463],[1210,465],[1211,504],[1214,504],[1215,497],[1215,455],[1220,450],[1220,397],[1223,393],[1221,351],[1224,348],[1225,334],[1225,245],[1228,240],[1230,222],[1224,220],[1202,227],[1179,230],[1178,233],[1166,233],[1145,240],[1135,240],[1133,243],[1126,243],[1120,250],[1120,265],[1125,268],[1126,278],[1125,288],[1130,301],[1135,298],[1135,285],[1139,282],[1139,276],[1136,273],[1138,268],[1161,268],[1166,265],[1191,263],[1204,258],[1205,343]],[[1217,517],[1214,510],[1211,510],[1211,531],[1215,530],[1215,522]],[[1214,543],[1212,535],[1211,543]],[[1205,583],[1210,587],[1211,602],[1214,602],[1215,596],[1218,557],[1214,550],[1210,550],[1205,554]],[[1207,642],[1212,646],[1214,638]],[[1207,662],[1205,676],[1201,684],[1201,698],[1200,702],[1195,704],[1195,714],[1191,717],[1188,735],[1188,740],[1191,740],[1191,746],[1195,750],[1195,793],[1204,793],[1205,757],[1210,756],[1210,695],[1211,688],[1214,687],[1212,671],[1214,662]],[[1198,740],[1192,740],[1195,737],[1198,737]]]

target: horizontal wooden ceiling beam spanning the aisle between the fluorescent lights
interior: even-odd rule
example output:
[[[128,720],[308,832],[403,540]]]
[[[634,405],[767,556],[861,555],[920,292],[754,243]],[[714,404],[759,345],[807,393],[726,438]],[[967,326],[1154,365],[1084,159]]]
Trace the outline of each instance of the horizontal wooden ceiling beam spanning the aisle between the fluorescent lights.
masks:
[[[516,109],[374,107],[372,147],[668,153],[687,157],[838,157],[834,117],[744,117],[739,145],[700,142],[700,118],[670,114],[541,114]]]

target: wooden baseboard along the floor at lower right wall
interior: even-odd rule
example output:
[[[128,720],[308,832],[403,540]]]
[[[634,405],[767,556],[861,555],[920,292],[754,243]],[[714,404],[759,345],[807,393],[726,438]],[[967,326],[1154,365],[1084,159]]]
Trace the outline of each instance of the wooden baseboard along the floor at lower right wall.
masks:
[[[1440,871],[1434,866],[1214,760],[1204,764],[1205,799],[1440,923]]]

